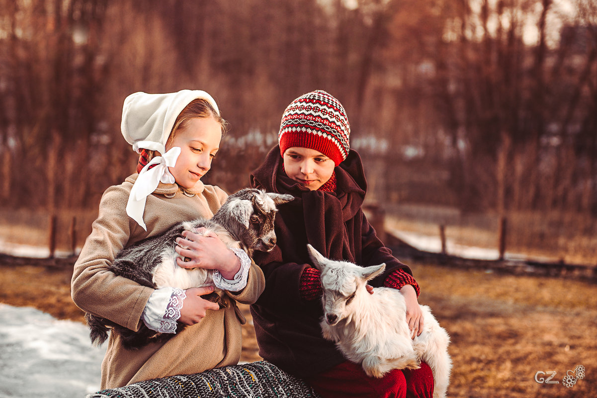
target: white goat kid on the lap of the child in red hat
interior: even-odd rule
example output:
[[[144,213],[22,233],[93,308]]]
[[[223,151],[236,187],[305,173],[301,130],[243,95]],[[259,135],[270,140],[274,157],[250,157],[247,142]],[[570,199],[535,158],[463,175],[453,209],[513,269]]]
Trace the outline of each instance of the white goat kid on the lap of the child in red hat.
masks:
[[[450,337],[439,326],[429,307],[423,311],[423,331],[411,338],[406,304],[401,292],[374,288],[367,281],[381,274],[386,264],[359,267],[346,261],[328,260],[307,245],[313,265],[321,271],[324,291],[322,335],[334,341],[351,362],[361,364],[370,377],[382,377],[392,369],[417,369],[421,360],[430,366],[435,380],[433,397],[445,397],[452,360]]]

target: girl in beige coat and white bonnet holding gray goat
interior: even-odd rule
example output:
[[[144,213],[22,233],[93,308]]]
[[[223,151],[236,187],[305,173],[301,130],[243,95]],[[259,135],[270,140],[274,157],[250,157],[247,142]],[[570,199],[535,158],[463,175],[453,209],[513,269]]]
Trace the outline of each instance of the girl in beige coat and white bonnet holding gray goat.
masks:
[[[214,235],[184,232],[189,240],[177,240],[176,251],[190,259],[180,266],[215,270],[214,282],[227,291],[221,309],[200,297],[213,289],[151,289],[106,269],[125,246],[180,221],[209,218],[220,208],[226,193],[204,185],[201,177],[211,168],[225,124],[204,91],[136,92],[124,101],[122,135],[141,153],[139,174],[104,192],[75,264],[72,298],[82,310],[135,331],[141,322],[165,333],[176,332],[177,320],[190,326],[165,343],[136,351],[110,334],[101,388],[238,363],[245,319],[235,301],[254,303],[264,288],[263,273],[244,251],[227,249]]]

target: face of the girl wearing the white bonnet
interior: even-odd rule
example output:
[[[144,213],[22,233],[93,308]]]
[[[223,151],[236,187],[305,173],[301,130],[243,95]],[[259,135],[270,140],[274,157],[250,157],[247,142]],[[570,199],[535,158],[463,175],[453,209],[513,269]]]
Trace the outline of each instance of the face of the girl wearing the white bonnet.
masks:
[[[180,147],[180,156],[168,170],[176,183],[191,189],[211,168],[211,161],[220,149],[221,125],[214,118],[192,118],[168,141],[166,150]]]

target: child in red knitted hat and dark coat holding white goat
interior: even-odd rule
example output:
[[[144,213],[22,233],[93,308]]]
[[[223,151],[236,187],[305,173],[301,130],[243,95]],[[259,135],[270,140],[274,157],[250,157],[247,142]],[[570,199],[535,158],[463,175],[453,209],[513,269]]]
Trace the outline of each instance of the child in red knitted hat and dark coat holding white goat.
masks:
[[[279,209],[276,248],[255,256],[266,277],[266,289],[251,306],[260,355],[324,398],[430,397],[433,376],[425,363],[415,371],[370,378],[321,336],[320,275],[309,265],[307,243],[328,258],[361,266],[386,263],[371,284],[404,294],[413,338],[423,326],[411,270],[381,243],[361,210],[367,182],[349,136],[340,102],[325,91],[309,92],[284,111],[279,145],[251,175],[254,187],[296,197]]]

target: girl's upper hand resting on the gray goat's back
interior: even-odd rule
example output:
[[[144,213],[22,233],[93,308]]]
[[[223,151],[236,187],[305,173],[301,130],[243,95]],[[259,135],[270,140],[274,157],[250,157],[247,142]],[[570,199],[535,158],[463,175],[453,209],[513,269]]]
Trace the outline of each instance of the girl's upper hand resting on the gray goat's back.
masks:
[[[200,228],[198,231],[204,233],[205,229]],[[182,236],[176,238],[174,250],[189,261],[176,258],[179,267],[218,270],[224,279],[229,280],[234,279],[241,269],[241,260],[215,233],[210,231],[203,236],[185,230]]]

